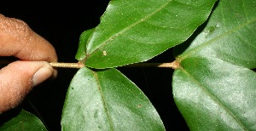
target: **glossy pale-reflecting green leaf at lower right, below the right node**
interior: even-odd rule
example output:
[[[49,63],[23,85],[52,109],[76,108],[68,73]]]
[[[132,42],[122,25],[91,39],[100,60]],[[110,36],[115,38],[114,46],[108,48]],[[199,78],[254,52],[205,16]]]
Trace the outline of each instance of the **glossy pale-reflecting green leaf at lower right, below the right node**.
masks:
[[[204,58],[183,60],[183,66],[185,76],[178,75],[177,72],[180,71],[174,75],[173,95],[185,119],[192,118],[189,116],[191,112],[197,117],[201,116],[197,123],[187,120],[189,128],[255,129],[252,123],[256,122],[253,118],[256,115],[256,94],[255,89],[251,88],[256,86],[253,81],[256,79],[255,72],[223,60]],[[184,78],[186,80],[183,80]],[[188,105],[190,114],[184,112],[188,111]],[[204,111],[208,112],[202,113]],[[227,122],[228,120],[230,122]]]

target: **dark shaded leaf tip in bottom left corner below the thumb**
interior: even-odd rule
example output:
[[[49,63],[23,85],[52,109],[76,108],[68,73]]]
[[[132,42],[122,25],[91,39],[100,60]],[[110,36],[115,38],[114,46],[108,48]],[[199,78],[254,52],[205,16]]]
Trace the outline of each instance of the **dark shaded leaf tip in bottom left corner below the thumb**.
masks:
[[[0,116],[1,117],[1,116]],[[43,122],[35,115],[21,110],[15,117],[9,119],[8,122],[4,122],[0,126],[1,131],[46,131]]]

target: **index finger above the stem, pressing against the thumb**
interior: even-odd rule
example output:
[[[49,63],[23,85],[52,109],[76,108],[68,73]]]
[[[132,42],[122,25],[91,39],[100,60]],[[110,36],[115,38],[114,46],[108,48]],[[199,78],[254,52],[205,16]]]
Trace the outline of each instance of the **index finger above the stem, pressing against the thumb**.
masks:
[[[55,48],[22,20],[0,14],[0,56],[20,60],[57,61]]]

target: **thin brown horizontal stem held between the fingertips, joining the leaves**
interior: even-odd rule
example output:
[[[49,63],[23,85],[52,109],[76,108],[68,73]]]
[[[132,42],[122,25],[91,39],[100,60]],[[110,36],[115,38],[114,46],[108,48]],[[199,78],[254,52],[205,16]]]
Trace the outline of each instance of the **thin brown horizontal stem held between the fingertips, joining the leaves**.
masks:
[[[0,60],[0,65],[8,65],[12,61],[9,60]],[[82,62],[78,63],[60,63],[60,62],[49,62],[49,65],[57,68],[83,68],[84,64]],[[124,65],[121,67],[163,67],[163,68],[172,68],[177,69],[180,67],[179,62],[174,60],[171,63],[135,63],[130,65]]]

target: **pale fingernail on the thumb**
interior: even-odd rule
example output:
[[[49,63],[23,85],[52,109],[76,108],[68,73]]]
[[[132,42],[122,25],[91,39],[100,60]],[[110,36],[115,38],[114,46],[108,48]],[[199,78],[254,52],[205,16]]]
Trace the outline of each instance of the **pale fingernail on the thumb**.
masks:
[[[37,86],[39,83],[44,82],[49,77],[52,77],[54,74],[54,69],[49,64],[44,64],[32,77],[32,86]]]

